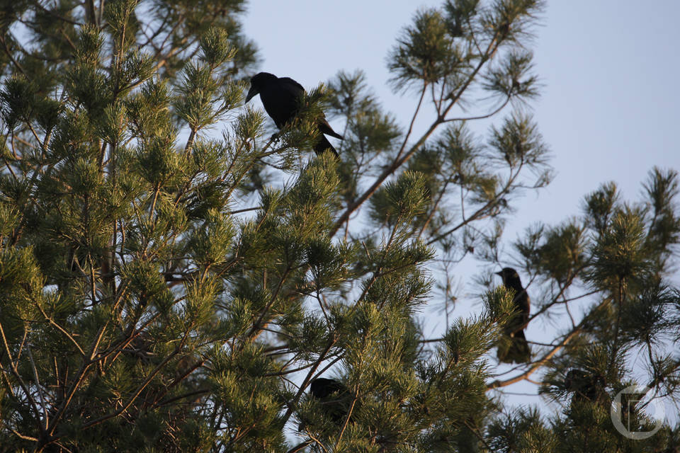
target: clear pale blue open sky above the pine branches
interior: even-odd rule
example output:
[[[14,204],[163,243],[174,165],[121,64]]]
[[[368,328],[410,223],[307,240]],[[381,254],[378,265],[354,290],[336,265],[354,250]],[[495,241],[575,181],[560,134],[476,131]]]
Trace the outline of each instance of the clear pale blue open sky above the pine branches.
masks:
[[[362,69],[385,109],[405,125],[416,100],[387,87],[385,57],[417,8],[440,5],[251,0],[245,33],[259,46],[261,70],[307,88],[339,70]],[[533,222],[579,214],[584,195],[601,183],[613,180],[626,200],[637,200],[653,166],[680,168],[679,17],[676,0],[548,1],[533,45],[544,87],[531,105],[556,178],[520,202],[506,241]]]

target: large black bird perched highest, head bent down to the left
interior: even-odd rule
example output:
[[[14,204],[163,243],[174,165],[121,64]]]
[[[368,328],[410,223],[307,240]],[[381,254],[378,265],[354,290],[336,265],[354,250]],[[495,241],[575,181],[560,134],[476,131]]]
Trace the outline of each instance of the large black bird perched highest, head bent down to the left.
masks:
[[[260,72],[255,74],[250,79],[250,89],[246,95],[246,103],[250,101],[256,94],[260,95],[264,110],[267,111],[271,119],[276,123],[279,129],[285,126],[290,120],[293,120],[297,114],[300,106],[300,98],[305,94],[305,88],[298,84],[290,77],[277,77],[268,72]],[[330,150],[335,156],[338,156],[338,151],[335,150],[331,142],[328,141],[324,134],[342,139],[342,135],[333,130],[328,124],[326,117],[322,115],[317,118],[317,127],[321,132],[319,142],[314,145],[314,151],[317,155],[326,150]]]

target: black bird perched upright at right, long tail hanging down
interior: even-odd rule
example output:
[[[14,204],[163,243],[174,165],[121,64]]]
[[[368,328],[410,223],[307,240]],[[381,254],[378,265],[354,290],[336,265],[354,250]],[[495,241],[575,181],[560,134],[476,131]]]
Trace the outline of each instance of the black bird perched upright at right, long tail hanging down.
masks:
[[[506,363],[528,363],[531,361],[531,350],[524,336],[524,329],[529,323],[529,295],[522,287],[517,271],[513,268],[503,268],[496,275],[503,279],[506,289],[514,292],[514,304],[516,314],[506,325],[504,335],[506,338],[499,344],[497,357],[501,362]]]

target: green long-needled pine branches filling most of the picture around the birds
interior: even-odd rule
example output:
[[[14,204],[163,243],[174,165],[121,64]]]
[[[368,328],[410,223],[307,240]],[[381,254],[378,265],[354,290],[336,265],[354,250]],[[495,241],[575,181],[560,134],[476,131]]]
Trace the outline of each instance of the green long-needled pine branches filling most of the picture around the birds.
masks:
[[[0,451],[672,452],[678,428],[630,440],[610,406],[634,378],[677,401],[677,173],[501,248],[552,176],[524,108],[542,6],[420,10],[388,57],[411,118],[341,71],[276,136],[242,106],[241,0],[3,6]],[[341,162],[312,152],[322,109]],[[514,294],[451,312],[470,258],[482,285],[514,260],[530,323],[570,323],[504,379]],[[524,379],[560,413],[504,408],[492,391]]]

